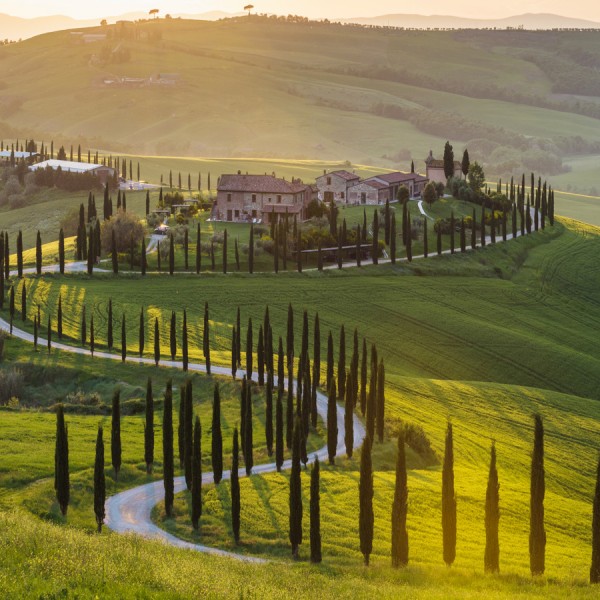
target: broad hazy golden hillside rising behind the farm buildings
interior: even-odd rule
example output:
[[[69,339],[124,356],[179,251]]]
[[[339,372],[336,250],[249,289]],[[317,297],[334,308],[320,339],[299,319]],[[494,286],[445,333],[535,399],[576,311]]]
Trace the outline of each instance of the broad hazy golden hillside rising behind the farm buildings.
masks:
[[[451,139],[489,175],[534,170],[567,191],[598,191],[593,32],[402,32],[259,17],[85,32],[107,38],[85,44],[57,32],[0,48],[0,136],[389,168],[420,163]],[[161,84],[159,73],[175,77]]]

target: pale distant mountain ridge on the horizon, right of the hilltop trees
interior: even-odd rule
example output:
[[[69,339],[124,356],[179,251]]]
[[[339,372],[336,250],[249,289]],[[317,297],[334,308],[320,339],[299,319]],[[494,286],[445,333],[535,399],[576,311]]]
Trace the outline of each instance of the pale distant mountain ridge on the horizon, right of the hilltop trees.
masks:
[[[504,19],[470,19],[449,15],[390,14],[341,19],[343,23],[405,27],[407,29],[598,29],[600,23],[547,13],[525,13]]]

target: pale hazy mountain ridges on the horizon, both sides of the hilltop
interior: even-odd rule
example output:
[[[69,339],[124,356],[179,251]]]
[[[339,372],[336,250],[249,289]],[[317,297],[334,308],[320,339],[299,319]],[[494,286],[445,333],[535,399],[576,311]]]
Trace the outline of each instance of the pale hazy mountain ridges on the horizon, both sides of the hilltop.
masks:
[[[162,13],[164,16],[166,13]],[[227,17],[237,17],[245,13],[227,13],[223,11],[210,11],[198,14],[173,13],[173,18],[216,21]],[[133,21],[147,18],[145,12],[131,12],[119,16],[106,17],[108,23],[121,20]],[[73,19],[64,15],[49,17],[35,17],[24,19],[0,13],[0,40],[27,39],[63,29],[76,29],[78,27],[96,27],[101,19]],[[352,19],[334,19],[342,23],[356,23],[360,25],[376,25],[387,27],[404,27],[407,29],[506,29],[507,27],[524,29],[598,29],[600,23],[585,19],[574,19],[553,14],[526,13],[506,17],[504,19],[470,19],[466,17],[453,17],[449,15],[416,15],[416,14],[389,14],[377,17],[355,17]]]

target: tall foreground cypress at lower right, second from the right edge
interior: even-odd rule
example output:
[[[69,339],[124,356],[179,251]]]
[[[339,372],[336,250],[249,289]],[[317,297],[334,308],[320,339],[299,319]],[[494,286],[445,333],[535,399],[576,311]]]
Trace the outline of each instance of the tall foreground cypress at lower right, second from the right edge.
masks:
[[[535,415],[535,435],[531,456],[531,498],[529,516],[529,566],[532,575],[543,575],[546,560],[546,531],[544,529],[544,424]]]

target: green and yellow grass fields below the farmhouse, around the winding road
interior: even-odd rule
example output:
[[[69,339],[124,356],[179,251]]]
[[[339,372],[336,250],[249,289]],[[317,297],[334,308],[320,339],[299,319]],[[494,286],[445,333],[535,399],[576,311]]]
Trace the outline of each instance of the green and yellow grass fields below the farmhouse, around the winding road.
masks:
[[[443,209],[439,205],[439,209]],[[511,597],[516,594],[550,594],[552,597],[591,597],[585,584],[590,557],[591,498],[597,459],[597,423],[600,419],[598,389],[600,355],[595,339],[600,322],[596,290],[600,285],[596,266],[600,237],[597,228],[570,220],[561,220],[547,229],[507,244],[486,247],[474,253],[443,256],[412,265],[397,265],[342,272],[285,274],[280,276],[233,274],[229,276],[140,276],[46,275],[28,277],[30,306],[39,302],[42,322],[52,312],[59,292],[65,311],[65,332],[73,338],[79,332],[79,307],[93,310],[98,323],[98,343],[104,339],[106,303],[113,298],[115,315],[126,314],[129,352],[137,352],[137,324],[140,306],[148,314],[166,323],[171,310],[181,315],[188,311],[192,323],[191,356],[199,359],[201,315],[208,301],[211,317],[213,361],[229,364],[231,326],[237,306],[242,307],[242,322],[252,317],[255,326],[269,305],[275,336],[285,332],[288,302],[296,308],[296,340],[299,343],[302,309],[314,316],[319,312],[323,341],[332,330],[337,340],[344,324],[351,351],[351,332],[356,327],[369,342],[377,343],[386,364],[387,431],[391,440],[375,446],[375,545],[373,568],[361,567],[357,532],[357,458],[340,460],[322,473],[322,515],[324,564],[319,568],[288,563],[287,545],[287,474],[254,476],[242,481],[242,548],[249,554],[275,557],[276,565],[244,567],[252,573],[247,586],[228,588],[250,595],[271,593],[285,581],[286,589],[310,590],[318,596],[328,588],[340,597],[372,594],[373,586],[382,597]],[[123,285],[127,296],[123,296]],[[35,298],[35,300],[34,300]],[[20,325],[20,323],[19,323]],[[26,328],[29,325],[26,325]],[[245,331],[245,328],[244,328]],[[166,354],[166,329],[162,330]],[[244,332],[242,333],[244,337]],[[337,342],[336,342],[337,343]],[[147,336],[147,347],[152,336]],[[77,387],[98,389],[110,400],[111,381],[123,381],[127,398],[143,395],[149,373],[164,385],[168,372],[150,367],[106,365],[98,359],[73,357],[64,353],[33,353],[22,343],[8,342],[8,364],[29,369],[49,370],[64,365],[81,372]],[[27,367],[27,363],[33,366]],[[38,371],[32,371],[34,374]],[[48,371],[50,372],[50,371]],[[179,376],[180,377],[180,376]],[[106,379],[108,381],[106,381]],[[86,383],[87,380],[87,383]],[[67,394],[75,386],[59,382]],[[210,382],[198,376],[199,396],[210,390]],[[125,385],[126,384],[126,385]],[[231,385],[231,384],[229,384]],[[206,394],[209,392],[206,391]],[[60,392],[59,392],[60,395]],[[43,396],[37,390],[31,401]],[[37,398],[37,400],[36,400]],[[56,398],[58,400],[58,397]],[[198,410],[207,415],[208,406],[200,400]],[[202,412],[204,411],[204,412]],[[528,494],[529,461],[532,444],[532,414],[540,412],[546,426],[546,529],[548,533],[547,571],[540,582],[528,577]],[[2,439],[19,439],[19,428],[37,421],[40,453],[26,454],[20,446],[7,463],[2,475],[2,501],[5,507],[17,504],[20,512],[3,513],[7,523],[5,543],[19,536],[21,542],[10,547],[11,561],[23,565],[36,557],[44,565],[48,581],[31,580],[27,590],[56,589],[59,564],[48,553],[33,546],[34,522],[28,513],[50,516],[52,513],[51,477],[52,415],[10,412],[0,421]],[[32,415],[30,417],[29,415]],[[202,590],[211,593],[215,584],[210,576],[196,583],[175,582],[172,576],[142,574],[131,561],[131,544],[137,556],[148,564],[177,557],[182,570],[198,561],[209,573],[217,573],[219,559],[133,541],[114,534],[80,537],[77,529],[93,525],[86,512],[85,494],[89,494],[93,433],[105,417],[69,416],[70,431],[79,429],[73,463],[79,505],[73,509],[75,529],[57,528],[39,523],[48,546],[66,544],[68,556],[75,548],[96,549],[98,560],[116,569],[115,554],[122,554],[118,567],[123,574],[110,594],[136,594],[141,586],[156,592],[184,596]],[[204,418],[204,417],[203,417]],[[455,471],[458,498],[458,545],[455,566],[448,570],[441,559],[439,466],[427,467],[419,457],[410,457],[409,535],[411,566],[400,573],[389,565],[389,514],[393,493],[393,432],[400,419],[420,425],[434,451],[441,456],[446,420],[455,430]],[[124,446],[128,466],[123,485],[145,480],[141,464],[141,418],[128,417]],[[83,424],[85,423],[85,424]],[[77,425],[77,427],[76,427]],[[10,433],[9,433],[10,432]],[[136,433],[137,432],[137,433]],[[483,500],[487,478],[489,446],[494,439],[498,448],[501,497],[501,570],[500,577],[483,577]],[[10,443],[10,442],[8,442]],[[206,443],[206,442],[205,442]],[[46,454],[42,446],[49,445]],[[77,445],[75,446],[77,448]],[[31,461],[35,469],[27,468]],[[87,462],[87,466],[86,466]],[[23,473],[26,471],[26,473]],[[158,473],[157,473],[158,475]],[[41,478],[41,483],[35,483]],[[87,492],[84,489],[87,488]],[[305,511],[307,479],[304,479]],[[89,510],[89,506],[87,507]],[[176,519],[163,525],[183,537],[199,539],[231,549],[228,483],[205,490],[205,510],[200,538],[194,538],[186,516],[186,499],[178,498]],[[22,512],[26,510],[27,512]],[[54,508],[56,512],[56,508]],[[81,515],[81,516],[80,516]],[[160,508],[156,514],[162,521]],[[15,522],[22,523],[17,534]],[[305,528],[308,516],[305,513]],[[301,562],[308,556],[305,543]],[[1,538],[0,538],[1,539]],[[62,540],[62,541],[60,541]],[[109,550],[111,548],[112,550]],[[110,552],[113,554],[110,555]],[[29,554],[28,554],[29,553]],[[75,560],[75,558],[73,558]],[[9,561],[10,562],[10,561]],[[183,566],[185,565],[185,567]],[[189,565],[189,566],[188,566]],[[233,577],[238,565],[227,569],[223,577]],[[279,571],[277,571],[279,569]],[[12,592],[19,589],[18,574],[0,569],[0,587]],[[37,570],[35,572],[38,572]],[[86,567],[73,580],[74,589],[101,593],[106,575]],[[163,571],[159,571],[163,573]],[[182,571],[183,572],[183,571]],[[276,573],[279,573],[277,576]],[[279,581],[277,581],[279,579]],[[327,583],[326,583],[327,582]],[[54,586],[54,587],[52,587]]]

